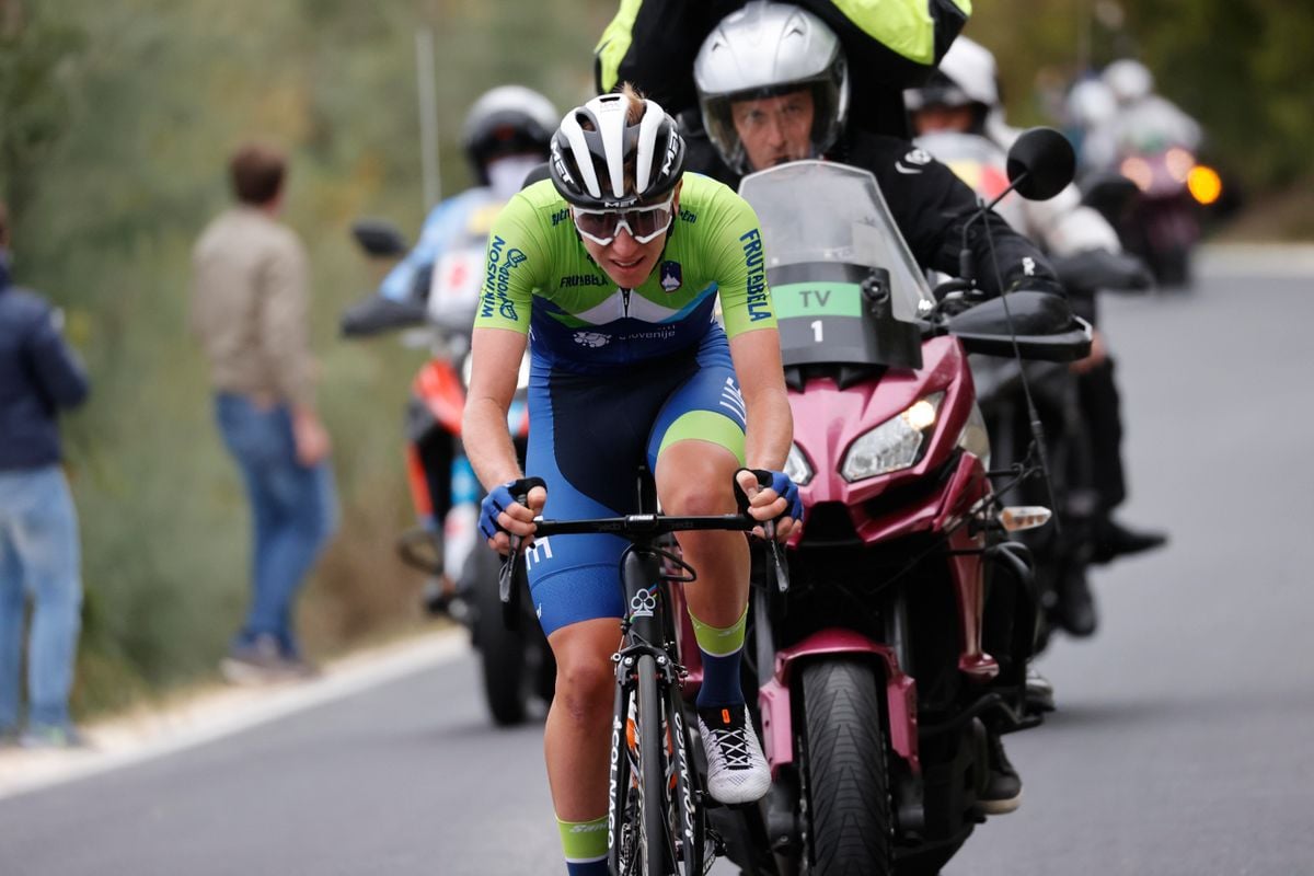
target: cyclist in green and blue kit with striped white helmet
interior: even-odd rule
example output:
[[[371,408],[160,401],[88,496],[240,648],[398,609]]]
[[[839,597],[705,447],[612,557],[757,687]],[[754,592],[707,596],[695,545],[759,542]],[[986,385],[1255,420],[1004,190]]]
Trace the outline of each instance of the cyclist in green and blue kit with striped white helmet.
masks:
[[[669,514],[732,514],[732,478],[758,520],[786,537],[802,504],[779,471],[792,437],[779,338],[757,217],[724,185],[685,175],[674,120],[632,89],[566,113],[551,180],[494,222],[476,317],[465,439],[489,489],[489,544],[532,536],[533,516],[631,510],[646,462]],[[720,296],[725,328],[712,320]],[[528,343],[530,448],[516,465],[506,410]],[[741,466],[767,470],[758,491]],[[783,516],[782,516],[783,515]],[[551,542],[551,544],[549,544]],[[572,536],[528,550],[530,588],[557,659],[545,729],[548,779],[572,873],[604,873],[611,655],[620,642],[615,536]],[[708,791],[762,797],[770,772],[740,688],[748,544],[736,533],[679,536],[698,570],[686,586],[704,666],[698,725]]]

